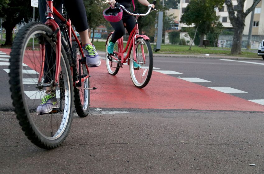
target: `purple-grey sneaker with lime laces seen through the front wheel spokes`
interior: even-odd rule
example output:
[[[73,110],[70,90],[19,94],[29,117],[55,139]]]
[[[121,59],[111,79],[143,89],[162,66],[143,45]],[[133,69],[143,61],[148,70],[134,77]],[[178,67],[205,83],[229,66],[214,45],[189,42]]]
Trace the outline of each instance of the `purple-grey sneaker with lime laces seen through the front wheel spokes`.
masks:
[[[40,103],[37,108],[37,112],[39,113],[39,115],[58,112],[59,105],[57,102],[56,94],[47,94],[41,100],[42,103]]]

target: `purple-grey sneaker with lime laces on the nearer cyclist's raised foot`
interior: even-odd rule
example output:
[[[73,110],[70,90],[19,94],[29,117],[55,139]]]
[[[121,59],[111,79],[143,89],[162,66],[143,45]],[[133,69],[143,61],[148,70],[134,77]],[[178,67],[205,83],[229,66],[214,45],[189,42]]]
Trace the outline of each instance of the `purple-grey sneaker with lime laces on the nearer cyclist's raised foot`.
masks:
[[[94,45],[86,44],[83,46],[84,54],[86,56],[86,64],[88,67],[98,67],[101,65],[101,59]]]

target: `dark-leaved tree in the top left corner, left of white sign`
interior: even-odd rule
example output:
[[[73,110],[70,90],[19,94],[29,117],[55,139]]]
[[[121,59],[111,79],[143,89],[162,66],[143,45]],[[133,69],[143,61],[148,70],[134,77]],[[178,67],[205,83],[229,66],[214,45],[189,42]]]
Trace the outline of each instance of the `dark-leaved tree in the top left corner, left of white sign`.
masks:
[[[0,17],[4,18],[5,20],[2,23],[3,28],[6,29],[6,42],[4,45],[11,45],[13,41],[13,28],[19,23],[32,20],[33,7],[31,7],[31,2],[29,0],[0,0],[0,2],[1,1],[8,2],[2,5],[0,10]]]

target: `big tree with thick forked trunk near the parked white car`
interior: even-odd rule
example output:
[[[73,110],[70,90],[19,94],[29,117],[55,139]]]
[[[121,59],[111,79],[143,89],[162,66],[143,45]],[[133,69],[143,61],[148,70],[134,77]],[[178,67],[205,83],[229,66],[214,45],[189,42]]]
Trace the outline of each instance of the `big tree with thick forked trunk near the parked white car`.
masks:
[[[253,4],[244,12],[245,0],[237,0],[237,12],[235,13],[231,0],[225,0],[229,19],[234,27],[233,44],[231,48],[231,54],[241,53],[242,35],[245,27],[245,18],[248,14],[257,6],[261,0],[253,0]]]

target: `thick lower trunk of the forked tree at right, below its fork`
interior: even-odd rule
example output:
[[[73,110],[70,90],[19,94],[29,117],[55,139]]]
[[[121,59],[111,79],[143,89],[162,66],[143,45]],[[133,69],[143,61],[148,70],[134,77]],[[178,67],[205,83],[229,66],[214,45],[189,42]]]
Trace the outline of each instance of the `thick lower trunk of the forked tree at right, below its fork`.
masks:
[[[231,54],[241,54],[241,43],[244,31],[244,25],[237,25],[234,28],[233,44],[231,48]]]

